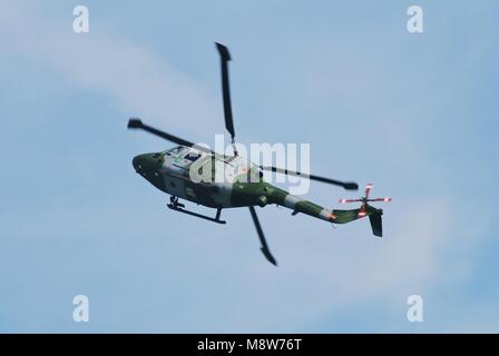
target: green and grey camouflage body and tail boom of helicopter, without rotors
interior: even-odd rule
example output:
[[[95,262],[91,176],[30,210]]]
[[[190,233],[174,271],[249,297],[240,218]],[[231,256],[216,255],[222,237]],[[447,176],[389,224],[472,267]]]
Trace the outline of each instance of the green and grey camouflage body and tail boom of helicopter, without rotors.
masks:
[[[358,219],[359,209],[332,210],[263,180],[262,170],[243,157],[209,155],[178,146],[134,158],[135,170],[172,196],[211,208],[275,204],[331,222]],[[380,211],[368,207],[368,215]]]

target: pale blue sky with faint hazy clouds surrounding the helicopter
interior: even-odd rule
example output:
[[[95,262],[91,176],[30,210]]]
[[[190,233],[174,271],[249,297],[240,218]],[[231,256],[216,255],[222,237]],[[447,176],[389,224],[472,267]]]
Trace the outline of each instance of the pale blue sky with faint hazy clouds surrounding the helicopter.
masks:
[[[72,9],[90,32],[72,32]],[[405,29],[409,6],[424,32]],[[0,1],[0,332],[499,332],[492,1]],[[309,142],[312,170],[393,197],[384,237],[258,209],[166,209],[131,158],[224,132]],[[344,191],[312,184],[336,207]],[[350,194],[348,195],[350,196]],[[72,297],[90,322],[72,322]],[[409,295],[424,322],[405,318]]]

